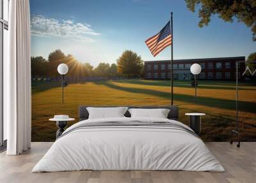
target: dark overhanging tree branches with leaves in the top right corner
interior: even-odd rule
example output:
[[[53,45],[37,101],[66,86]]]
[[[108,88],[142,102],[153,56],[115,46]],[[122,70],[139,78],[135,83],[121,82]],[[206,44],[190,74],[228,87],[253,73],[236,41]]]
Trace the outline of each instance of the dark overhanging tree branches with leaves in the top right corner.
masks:
[[[218,14],[225,22],[233,22],[234,18],[252,29],[253,41],[256,41],[256,1],[255,0],[185,0],[188,9],[195,12],[200,6],[198,26],[202,28],[211,21],[211,16]]]

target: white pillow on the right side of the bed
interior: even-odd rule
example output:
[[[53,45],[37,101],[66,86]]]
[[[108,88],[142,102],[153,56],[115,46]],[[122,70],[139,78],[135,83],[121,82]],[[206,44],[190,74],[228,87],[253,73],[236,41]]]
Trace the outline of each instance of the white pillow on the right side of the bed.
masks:
[[[129,109],[131,118],[167,118],[170,109]]]

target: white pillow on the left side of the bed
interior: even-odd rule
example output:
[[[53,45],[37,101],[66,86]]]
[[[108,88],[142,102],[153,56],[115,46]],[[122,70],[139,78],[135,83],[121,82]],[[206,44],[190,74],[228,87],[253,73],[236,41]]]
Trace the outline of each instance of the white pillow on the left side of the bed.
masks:
[[[119,118],[125,117],[124,114],[128,107],[86,107],[89,119],[95,118]]]

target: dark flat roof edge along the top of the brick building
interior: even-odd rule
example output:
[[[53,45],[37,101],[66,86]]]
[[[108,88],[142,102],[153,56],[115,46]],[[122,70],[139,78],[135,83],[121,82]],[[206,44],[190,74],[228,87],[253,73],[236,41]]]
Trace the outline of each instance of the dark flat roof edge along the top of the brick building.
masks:
[[[193,58],[193,59],[180,59],[180,60],[173,60],[173,61],[245,61],[245,56],[236,56],[236,57],[220,57],[220,58]],[[144,61],[144,62],[163,62],[163,61],[171,61],[171,60],[152,60],[152,61]]]

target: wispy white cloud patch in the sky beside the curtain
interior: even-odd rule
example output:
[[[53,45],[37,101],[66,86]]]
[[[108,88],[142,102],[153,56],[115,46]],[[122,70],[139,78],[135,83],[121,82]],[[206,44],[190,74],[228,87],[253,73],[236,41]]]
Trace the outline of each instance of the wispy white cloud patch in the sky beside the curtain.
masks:
[[[94,41],[88,36],[100,35],[88,24],[74,23],[72,20],[59,21],[42,15],[31,16],[31,34],[35,36],[59,36],[86,42]]]

